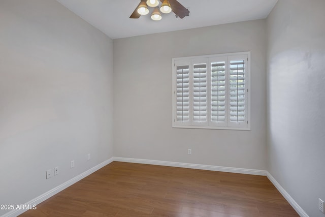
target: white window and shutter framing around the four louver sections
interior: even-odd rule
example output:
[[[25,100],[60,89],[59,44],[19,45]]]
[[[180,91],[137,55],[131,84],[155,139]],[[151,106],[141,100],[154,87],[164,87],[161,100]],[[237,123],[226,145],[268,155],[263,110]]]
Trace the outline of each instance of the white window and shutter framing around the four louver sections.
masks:
[[[245,60],[245,121],[234,122],[230,121],[230,61],[235,59]],[[212,61],[225,61],[225,121],[212,121],[211,120],[211,64]],[[193,129],[220,129],[220,130],[250,130],[250,51],[237,52],[237,53],[224,53],[203,56],[189,56],[172,58],[172,95],[173,95],[173,115],[172,127],[173,128],[193,128]],[[193,65],[194,64],[207,64],[207,121],[194,122],[193,121]],[[177,121],[177,65],[189,65],[189,120]]]

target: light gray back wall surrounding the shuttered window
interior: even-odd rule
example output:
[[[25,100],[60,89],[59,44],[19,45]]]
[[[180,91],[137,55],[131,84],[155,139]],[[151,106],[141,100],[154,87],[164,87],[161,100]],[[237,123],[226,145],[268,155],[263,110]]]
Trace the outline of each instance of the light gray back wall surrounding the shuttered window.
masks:
[[[114,39],[114,156],[266,169],[266,21]],[[251,131],[172,128],[172,57],[251,51]],[[187,155],[187,148],[192,155]]]

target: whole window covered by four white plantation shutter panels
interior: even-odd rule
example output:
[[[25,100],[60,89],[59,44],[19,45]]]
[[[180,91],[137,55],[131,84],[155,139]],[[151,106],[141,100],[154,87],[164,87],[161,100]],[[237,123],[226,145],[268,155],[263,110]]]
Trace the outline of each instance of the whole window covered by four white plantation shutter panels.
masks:
[[[172,61],[173,127],[250,130],[250,52]]]

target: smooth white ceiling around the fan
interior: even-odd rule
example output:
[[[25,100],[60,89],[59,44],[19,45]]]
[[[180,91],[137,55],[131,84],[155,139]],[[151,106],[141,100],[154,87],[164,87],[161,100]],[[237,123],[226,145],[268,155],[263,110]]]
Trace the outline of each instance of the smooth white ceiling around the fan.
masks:
[[[56,0],[112,39],[266,18],[277,0],[178,0],[190,13],[153,21],[129,16],[140,0]],[[161,3],[160,3],[161,4]],[[152,9],[150,9],[150,13]]]

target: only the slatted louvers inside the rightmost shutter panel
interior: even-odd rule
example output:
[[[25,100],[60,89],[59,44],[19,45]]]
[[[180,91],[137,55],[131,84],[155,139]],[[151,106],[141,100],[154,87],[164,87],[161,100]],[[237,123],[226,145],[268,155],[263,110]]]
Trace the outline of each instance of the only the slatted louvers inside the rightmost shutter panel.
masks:
[[[230,61],[230,121],[245,121],[245,61]]]

